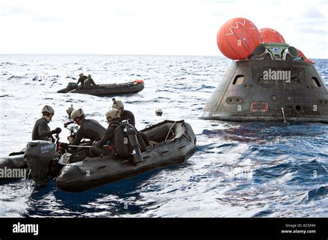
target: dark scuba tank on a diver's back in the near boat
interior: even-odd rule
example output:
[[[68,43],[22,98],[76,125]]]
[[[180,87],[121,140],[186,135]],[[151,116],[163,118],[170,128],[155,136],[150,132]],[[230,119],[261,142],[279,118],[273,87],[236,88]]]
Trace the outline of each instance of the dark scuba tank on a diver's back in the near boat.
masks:
[[[143,155],[141,154],[140,150],[140,144],[138,142],[136,129],[133,125],[129,124],[128,121],[122,121],[122,123],[125,124],[125,128],[123,129],[123,132],[125,134],[125,137],[127,137],[131,148],[131,161],[133,165],[136,165],[137,163],[143,162]]]

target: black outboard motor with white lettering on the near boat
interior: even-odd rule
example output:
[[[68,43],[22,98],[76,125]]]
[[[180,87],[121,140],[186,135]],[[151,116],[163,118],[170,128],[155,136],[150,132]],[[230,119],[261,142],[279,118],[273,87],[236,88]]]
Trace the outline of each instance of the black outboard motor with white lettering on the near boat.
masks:
[[[43,140],[28,142],[25,148],[26,163],[30,168],[30,174],[35,183],[40,185],[48,183],[48,175],[51,171],[55,154],[55,143]]]

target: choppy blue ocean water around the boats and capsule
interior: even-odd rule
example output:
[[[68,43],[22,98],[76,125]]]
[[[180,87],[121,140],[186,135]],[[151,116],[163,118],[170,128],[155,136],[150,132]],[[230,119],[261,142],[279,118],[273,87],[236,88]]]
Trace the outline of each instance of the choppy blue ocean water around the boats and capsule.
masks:
[[[315,62],[328,86],[328,60]],[[0,182],[0,217],[328,217],[327,124],[198,118],[229,64],[221,57],[0,55],[0,157],[26,146],[45,104],[55,109],[49,126],[62,128],[62,141],[71,104],[107,126],[111,97],[57,93],[80,72],[96,83],[143,79],[143,91],[117,97],[134,112],[136,128],[184,119],[197,135],[185,164],[86,192],[64,192],[53,181],[42,189],[31,179]]]

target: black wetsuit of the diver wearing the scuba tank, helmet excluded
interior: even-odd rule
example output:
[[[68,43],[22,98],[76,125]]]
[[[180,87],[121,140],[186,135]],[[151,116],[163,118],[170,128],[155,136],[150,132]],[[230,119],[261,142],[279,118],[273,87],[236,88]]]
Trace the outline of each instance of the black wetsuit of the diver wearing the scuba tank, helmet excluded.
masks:
[[[118,122],[118,121],[112,121],[109,124],[106,132],[104,132],[104,135],[102,136],[102,138],[99,141],[95,142],[95,145],[93,145],[91,147],[91,149],[90,149],[91,157],[96,157],[96,156],[99,156],[100,154],[103,154],[103,155],[111,154],[113,152],[112,150],[110,150],[109,148],[102,148],[108,141],[111,141],[111,146],[112,146],[113,150],[115,150],[114,135],[115,135],[116,128],[118,128],[118,126],[120,126],[120,122]]]

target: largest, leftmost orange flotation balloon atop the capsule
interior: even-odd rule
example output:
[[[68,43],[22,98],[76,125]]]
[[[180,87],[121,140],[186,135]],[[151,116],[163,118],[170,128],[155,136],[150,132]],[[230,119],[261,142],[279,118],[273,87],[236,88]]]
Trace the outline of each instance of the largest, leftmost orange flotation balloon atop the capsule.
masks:
[[[237,17],[230,19],[217,32],[217,46],[229,59],[246,59],[262,43],[255,24]]]

